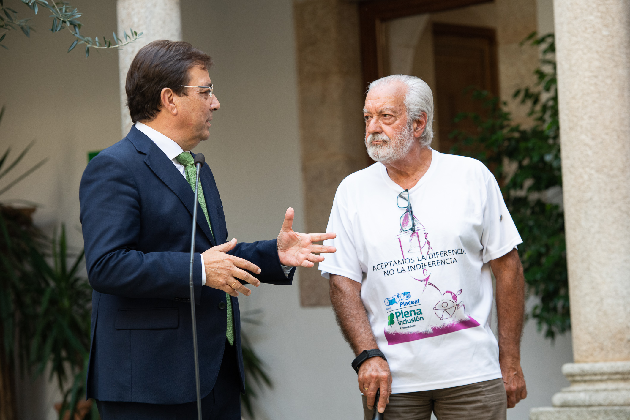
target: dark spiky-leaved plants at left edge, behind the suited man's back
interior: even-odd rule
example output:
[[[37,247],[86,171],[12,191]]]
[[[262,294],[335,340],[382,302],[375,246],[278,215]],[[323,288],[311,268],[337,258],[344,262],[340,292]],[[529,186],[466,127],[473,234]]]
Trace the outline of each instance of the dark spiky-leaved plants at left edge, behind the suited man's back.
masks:
[[[4,106],[0,120],[3,114]],[[11,151],[6,150],[0,157],[0,179],[16,167],[32,146],[33,142],[4,167]],[[14,178],[0,189],[0,194],[46,161],[43,159]],[[64,393],[60,419],[69,407],[74,411],[84,395],[89,356],[91,288],[78,275],[83,251],[74,256],[71,264],[69,258],[63,225],[59,236],[55,232],[52,241],[47,241],[33,226],[28,209],[0,204],[0,331],[4,350],[0,366],[13,371],[13,360],[17,358],[22,374],[28,372],[37,377],[50,363],[50,379],[56,378]],[[67,378],[74,381],[64,391]],[[93,414],[92,418],[97,416]]]

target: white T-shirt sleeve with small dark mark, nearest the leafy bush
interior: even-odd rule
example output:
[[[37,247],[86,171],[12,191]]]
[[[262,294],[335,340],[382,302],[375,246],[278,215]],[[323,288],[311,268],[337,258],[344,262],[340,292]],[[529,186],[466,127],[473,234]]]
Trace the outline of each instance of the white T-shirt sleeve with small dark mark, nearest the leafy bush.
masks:
[[[516,225],[508,212],[508,208],[501,195],[501,189],[496,183],[495,177],[484,167],[486,178],[486,200],[483,211],[483,233],[481,245],[483,246],[483,263],[500,258],[521,244]]]

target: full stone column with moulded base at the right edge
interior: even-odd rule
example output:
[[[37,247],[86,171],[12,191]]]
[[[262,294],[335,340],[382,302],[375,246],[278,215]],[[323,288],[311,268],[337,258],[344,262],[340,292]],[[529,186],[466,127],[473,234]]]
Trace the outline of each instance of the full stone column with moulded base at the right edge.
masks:
[[[530,419],[630,419],[630,3],[554,1],[575,363]]]

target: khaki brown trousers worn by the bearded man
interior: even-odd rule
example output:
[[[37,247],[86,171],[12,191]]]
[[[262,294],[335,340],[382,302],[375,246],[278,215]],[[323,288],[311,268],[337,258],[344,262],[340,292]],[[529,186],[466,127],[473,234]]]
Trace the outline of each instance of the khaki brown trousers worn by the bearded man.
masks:
[[[461,387],[406,392],[389,396],[385,420],[506,420],[507,395],[503,378],[471,383]],[[364,420],[372,420],[363,395]]]

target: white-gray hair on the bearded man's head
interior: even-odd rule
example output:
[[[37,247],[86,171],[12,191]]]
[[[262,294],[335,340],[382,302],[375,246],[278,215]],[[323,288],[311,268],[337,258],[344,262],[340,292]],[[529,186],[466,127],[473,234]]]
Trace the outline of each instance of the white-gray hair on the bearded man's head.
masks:
[[[427,116],[425,131],[420,136],[420,145],[427,147],[433,141],[433,92],[431,88],[420,77],[394,74],[381,77],[381,79],[370,83],[367,91],[369,93],[372,88],[392,82],[400,82],[407,88],[407,93],[404,97],[404,107],[407,111],[407,124],[410,127],[423,113]]]

